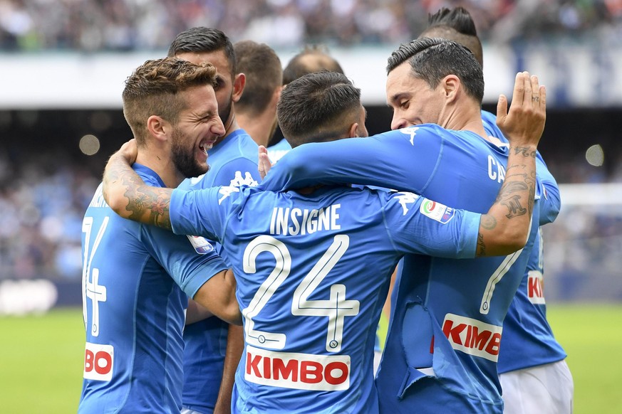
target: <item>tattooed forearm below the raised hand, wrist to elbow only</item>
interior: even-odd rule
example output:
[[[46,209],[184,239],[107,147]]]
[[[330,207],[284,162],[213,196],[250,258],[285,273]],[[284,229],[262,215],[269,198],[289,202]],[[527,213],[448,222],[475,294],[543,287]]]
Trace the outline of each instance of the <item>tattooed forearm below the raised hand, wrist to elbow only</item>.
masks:
[[[536,146],[510,147],[509,154],[497,199],[480,221],[478,256],[512,253],[524,246],[529,235],[536,185]]]

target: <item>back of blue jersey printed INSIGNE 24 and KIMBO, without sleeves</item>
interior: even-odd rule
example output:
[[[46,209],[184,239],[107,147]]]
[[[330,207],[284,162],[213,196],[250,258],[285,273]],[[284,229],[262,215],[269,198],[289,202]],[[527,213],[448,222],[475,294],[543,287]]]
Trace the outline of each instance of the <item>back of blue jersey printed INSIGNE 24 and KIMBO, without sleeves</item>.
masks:
[[[256,193],[228,224],[247,342],[237,410],[377,409],[375,329],[398,253],[370,194]]]

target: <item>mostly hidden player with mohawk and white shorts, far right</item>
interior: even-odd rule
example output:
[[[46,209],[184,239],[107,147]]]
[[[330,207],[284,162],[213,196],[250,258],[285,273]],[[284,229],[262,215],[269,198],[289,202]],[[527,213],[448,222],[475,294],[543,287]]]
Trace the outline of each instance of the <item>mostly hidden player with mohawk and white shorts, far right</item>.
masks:
[[[482,43],[475,22],[462,8],[442,8],[429,16],[429,27],[420,37],[447,38],[462,44],[482,65]],[[487,133],[506,142],[495,117],[482,111]],[[551,214],[540,214],[540,225],[554,221],[560,200],[557,183],[537,153],[537,171],[544,187],[541,205],[548,203]],[[571,413],[574,384],[566,359],[549,322],[543,290],[543,244],[541,231],[534,244],[521,285],[503,322],[503,341],[497,371],[501,381],[505,414]]]

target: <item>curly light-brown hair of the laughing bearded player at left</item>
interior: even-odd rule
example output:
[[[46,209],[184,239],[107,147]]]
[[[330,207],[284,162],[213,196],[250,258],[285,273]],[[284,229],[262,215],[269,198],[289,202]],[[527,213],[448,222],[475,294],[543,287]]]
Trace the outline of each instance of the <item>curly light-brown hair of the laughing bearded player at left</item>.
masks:
[[[217,82],[216,68],[211,63],[195,65],[178,58],[147,60],[125,80],[123,115],[138,144],[147,136],[147,119],[157,115],[176,124],[187,102],[179,92],[190,87]]]

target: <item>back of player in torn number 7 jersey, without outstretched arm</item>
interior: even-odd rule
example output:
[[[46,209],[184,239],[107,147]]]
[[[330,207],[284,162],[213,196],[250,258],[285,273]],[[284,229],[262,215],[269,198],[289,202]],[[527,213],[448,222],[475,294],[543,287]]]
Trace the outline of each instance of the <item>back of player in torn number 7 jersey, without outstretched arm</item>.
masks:
[[[430,174],[414,176],[415,189],[456,208],[487,211],[505,176],[505,150],[475,133],[436,125],[410,128],[410,133],[415,151],[429,140],[436,154],[421,160]],[[533,220],[538,222],[537,209]],[[382,411],[408,412],[415,406],[423,412],[502,410],[497,379],[502,321],[536,233],[532,225],[526,247],[507,257],[405,257],[378,372]]]

